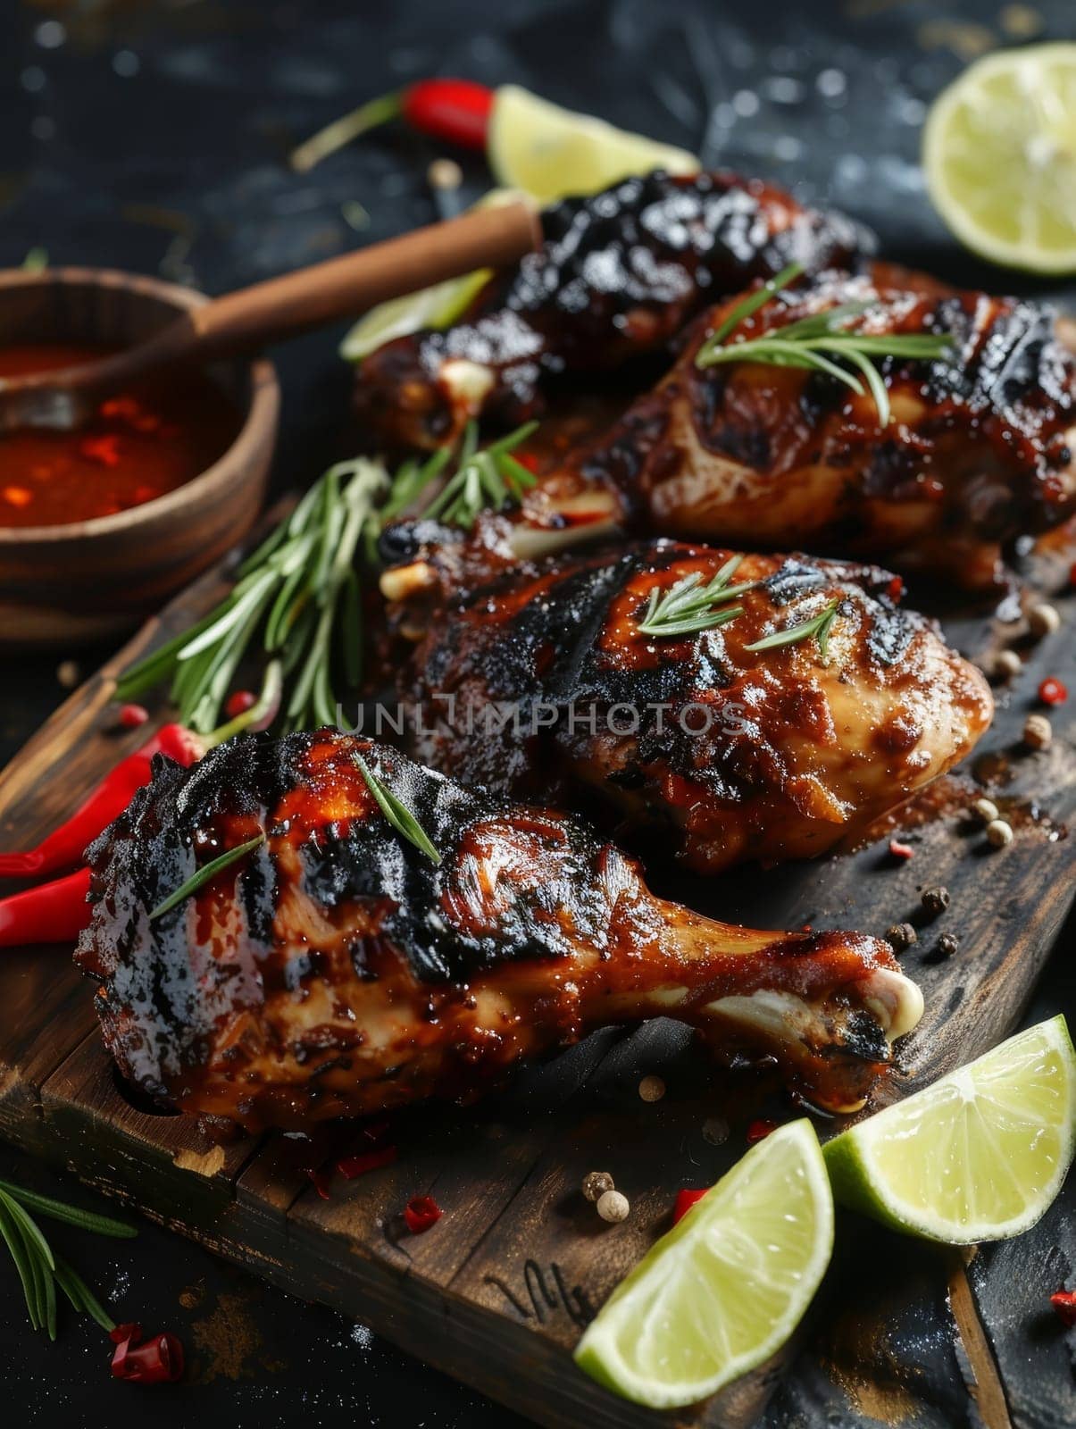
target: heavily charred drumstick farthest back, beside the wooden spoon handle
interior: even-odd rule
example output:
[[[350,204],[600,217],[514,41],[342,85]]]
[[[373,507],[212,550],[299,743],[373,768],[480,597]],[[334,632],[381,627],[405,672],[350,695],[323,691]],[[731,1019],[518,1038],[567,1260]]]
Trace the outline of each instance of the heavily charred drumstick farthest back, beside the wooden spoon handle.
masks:
[[[626,179],[556,204],[542,224],[542,250],[492,277],[452,329],[363,360],[354,403],[377,444],[443,446],[470,417],[514,426],[543,410],[552,380],[667,353],[707,302],[752,279],[873,252],[843,214],[729,173]]]

